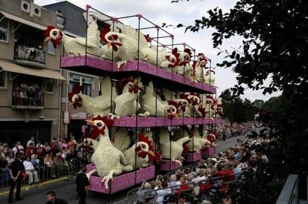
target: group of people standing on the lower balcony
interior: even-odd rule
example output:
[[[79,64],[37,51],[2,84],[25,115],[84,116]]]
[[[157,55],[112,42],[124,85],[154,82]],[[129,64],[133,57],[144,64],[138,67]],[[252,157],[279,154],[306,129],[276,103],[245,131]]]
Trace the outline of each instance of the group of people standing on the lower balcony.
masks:
[[[42,89],[37,82],[27,83],[22,81],[14,84],[12,95],[12,105],[42,105]]]

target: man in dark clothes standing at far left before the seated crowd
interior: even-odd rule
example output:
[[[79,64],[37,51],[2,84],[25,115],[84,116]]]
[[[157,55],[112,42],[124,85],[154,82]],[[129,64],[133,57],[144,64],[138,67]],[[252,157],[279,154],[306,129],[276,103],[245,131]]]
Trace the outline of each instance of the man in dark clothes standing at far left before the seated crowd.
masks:
[[[11,163],[11,168],[9,170],[10,176],[12,178],[11,187],[9,189],[8,203],[13,203],[13,193],[16,186],[16,201],[21,201],[20,198],[20,188],[21,188],[21,172],[24,170],[24,166],[21,162],[21,154],[16,155],[16,160]]]

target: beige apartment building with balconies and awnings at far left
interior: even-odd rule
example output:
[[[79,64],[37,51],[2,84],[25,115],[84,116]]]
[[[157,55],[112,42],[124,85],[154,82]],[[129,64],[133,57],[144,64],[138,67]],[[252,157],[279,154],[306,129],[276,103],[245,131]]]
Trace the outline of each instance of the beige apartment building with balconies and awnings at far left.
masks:
[[[33,0],[0,0],[0,142],[50,141],[61,134],[61,47],[44,30],[65,18]]]

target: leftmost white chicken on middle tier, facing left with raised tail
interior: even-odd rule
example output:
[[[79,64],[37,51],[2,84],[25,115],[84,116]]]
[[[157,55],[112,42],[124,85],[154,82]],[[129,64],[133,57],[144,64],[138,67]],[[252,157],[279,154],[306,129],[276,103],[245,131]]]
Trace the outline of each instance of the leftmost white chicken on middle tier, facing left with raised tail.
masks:
[[[69,93],[70,106],[77,107],[83,106],[91,115],[107,115],[113,112],[115,105],[113,99],[117,96],[115,88],[111,89],[110,77],[105,76],[101,83],[102,95],[97,97],[90,97],[81,93],[81,86],[74,87],[72,92]],[[112,94],[111,94],[112,90]],[[111,99],[112,96],[112,99]],[[112,105],[112,110],[111,110]]]

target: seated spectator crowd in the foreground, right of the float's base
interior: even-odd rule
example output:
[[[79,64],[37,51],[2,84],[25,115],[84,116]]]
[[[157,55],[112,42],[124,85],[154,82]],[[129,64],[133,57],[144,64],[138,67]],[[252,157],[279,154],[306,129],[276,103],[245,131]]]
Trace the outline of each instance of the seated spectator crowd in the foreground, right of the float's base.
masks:
[[[269,162],[262,151],[264,142],[270,140],[260,138],[237,144],[206,160],[201,159],[197,166],[143,182],[137,192],[137,204],[150,201],[157,204],[210,204],[217,199],[231,204],[231,183],[244,179],[244,171],[255,171]]]

